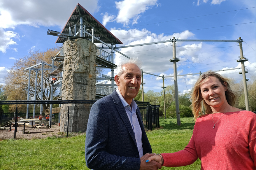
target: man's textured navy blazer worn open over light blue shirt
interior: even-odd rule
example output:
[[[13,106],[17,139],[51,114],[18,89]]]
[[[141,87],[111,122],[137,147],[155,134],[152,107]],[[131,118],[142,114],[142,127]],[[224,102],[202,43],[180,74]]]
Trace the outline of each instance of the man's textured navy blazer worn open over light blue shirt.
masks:
[[[136,110],[142,130],[143,155],[152,153],[140,110]],[[118,93],[92,105],[86,130],[85,159],[95,170],[139,170],[140,157],[135,135]]]

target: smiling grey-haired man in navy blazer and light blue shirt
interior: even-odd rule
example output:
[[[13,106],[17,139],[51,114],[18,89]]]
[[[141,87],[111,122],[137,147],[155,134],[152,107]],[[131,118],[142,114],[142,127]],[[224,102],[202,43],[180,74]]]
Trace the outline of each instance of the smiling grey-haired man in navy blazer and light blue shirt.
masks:
[[[137,59],[118,66],[114,77],[118,89],[92,105],[86,131],[85,159],[95,170],[157,170],[140,110],[134,102],[141,84]]]

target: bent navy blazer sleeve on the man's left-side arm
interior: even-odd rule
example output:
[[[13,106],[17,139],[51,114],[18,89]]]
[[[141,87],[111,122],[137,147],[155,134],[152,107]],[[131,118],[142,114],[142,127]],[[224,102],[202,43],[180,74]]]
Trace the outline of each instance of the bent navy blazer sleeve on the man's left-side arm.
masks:
[[[140,158],[117,156],[106,151],[108,119],[103,103],[94,103],[86,130],[85,159],[87,167],[97,170],[139,170]]]

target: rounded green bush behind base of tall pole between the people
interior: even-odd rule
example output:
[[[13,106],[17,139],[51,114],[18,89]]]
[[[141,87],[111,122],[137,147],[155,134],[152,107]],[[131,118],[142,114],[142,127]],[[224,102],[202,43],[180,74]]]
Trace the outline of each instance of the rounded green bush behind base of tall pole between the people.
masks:
[[[180,117],[181,118],[191,118],[194,117],[192,110],[189,106],[179,105]],[[171,118],[176,118],[176,107],[175,105],[170,105],[166,110],[166,116]]]

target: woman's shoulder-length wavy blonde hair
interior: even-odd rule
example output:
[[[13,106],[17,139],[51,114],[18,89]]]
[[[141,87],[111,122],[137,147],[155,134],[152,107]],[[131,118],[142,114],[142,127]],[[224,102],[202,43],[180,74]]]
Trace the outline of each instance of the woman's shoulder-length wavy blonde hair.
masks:
[[[208,105],[204,101],[204,99],[201,95],[201,85],[203,83],[205,83],[205,81],[207,81],[209,76],[218,78],[218,80],[221,82],[221,84],[227,89],[225,91],[227,103],[229,103],[229,105],[231,105],[231,106],[235,105],[235,100],[237,98],[237,95],[235,94],[234,91],[231,90],[230,85],[229,85],[229,80],[227,78],[224,78],[223,76],[221,76],[218,73],[215,73],[213,71],[207,71],[199,77],[199,79],[197,80],[197,82],[193,88],[192,95],[191,95],[191,100],[192,100],[191,106],[192,106],[192,111],[194,114],[195,121],[198,117],[212,112],[210,105]],[[227,86],[224,84],[224,82],[227,83]],[[203,103],[204,103],[205,112],[203,112],[203,110],[202,110],[202,105],[201,105],[202,100],[204,101]]]

